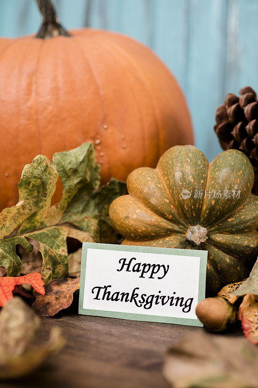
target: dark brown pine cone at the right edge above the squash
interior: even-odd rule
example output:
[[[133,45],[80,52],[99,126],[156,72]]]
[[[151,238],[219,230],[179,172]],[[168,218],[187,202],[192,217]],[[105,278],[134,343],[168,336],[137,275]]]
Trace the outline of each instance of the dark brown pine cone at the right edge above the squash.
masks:
[[[214,130],[223,149],[240,149],[258,167],[258,101],[255,91],[245,86],[240,97],[228,93],[216,110]]]

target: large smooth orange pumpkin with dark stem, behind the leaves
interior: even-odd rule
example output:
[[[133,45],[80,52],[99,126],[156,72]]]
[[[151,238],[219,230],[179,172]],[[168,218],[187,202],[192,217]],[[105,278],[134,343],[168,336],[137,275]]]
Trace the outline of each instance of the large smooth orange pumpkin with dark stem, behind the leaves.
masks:
[[[37,36],[0,39],[0,209],[16,203],[22,169],[37,154],[51,160],[91,141],[104,183],[193,143],[182,91],[150,49],[114,32],[68,33],[50,0],[37,3]]]

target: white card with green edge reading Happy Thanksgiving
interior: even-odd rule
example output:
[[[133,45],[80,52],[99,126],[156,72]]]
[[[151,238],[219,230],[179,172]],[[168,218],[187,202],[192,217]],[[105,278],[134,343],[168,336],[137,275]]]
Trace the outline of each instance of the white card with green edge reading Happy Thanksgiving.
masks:
[[[84,244],[81,269],[84,284],[83,290],[80,289],[79,312],[200,325],[195,308],[200,299],[200,275],[203,275],[200,265],[204,251],[134,246],[121,250],[123,248],[125,246]],[[204,265],[206,267],[206,260]]]

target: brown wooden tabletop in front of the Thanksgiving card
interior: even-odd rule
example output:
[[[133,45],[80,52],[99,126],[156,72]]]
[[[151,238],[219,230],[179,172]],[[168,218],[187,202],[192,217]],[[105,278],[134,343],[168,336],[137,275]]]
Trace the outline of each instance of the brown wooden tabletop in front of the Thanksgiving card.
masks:
[[[162,362],[170,344],[200,327],[91,317],[63,312],[42,318],[58,325],[66,347],[43,367],[6,388],[169,388]]]

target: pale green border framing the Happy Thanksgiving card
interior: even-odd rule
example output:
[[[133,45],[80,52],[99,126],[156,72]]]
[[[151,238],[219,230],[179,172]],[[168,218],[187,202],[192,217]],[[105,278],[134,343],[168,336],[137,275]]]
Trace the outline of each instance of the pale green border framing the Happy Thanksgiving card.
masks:
[[[200,326],[203,324],[198,319],[188,318],[173,318],[173,317],[162,317],[157,315],[145,315],[136,313],[126,313],[119,311],[106,311],[106,310],[91,310],[83,308],[83,297],[85,288],[85,273],[86,273],[86,262],[87,262],[87,249],[109,249],[114,251],[122,252],[145,252],[154,254],[165,254],[165,255],[182,255],[189,257],[200,257],[200,270],[199,270],[199,290],[198,290],[198,302],[205,298],[205,285],[206,285],[206,268],[207,268],[207,255],[208,251],[191,250],[191,249],[178,249],[178,248],[160,248],[150,246],[135,246],[135,245],[117,245],[117,244],[102,244],[97,242],[83,242],[82,244],[82,258],[81,258],[81,278],[80,278],[80,294],[79,294],[79,314],[93,315],[98,317],[107,318],[119,318],[129,319],[133,321],[145,321],[145,322],[159,322],[159,323],[174,323],[183,324],[188,326]]]

